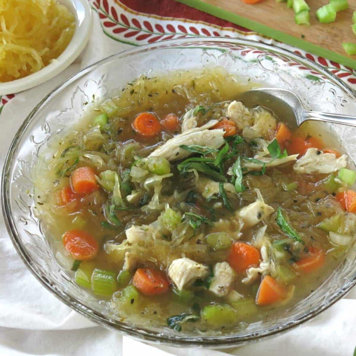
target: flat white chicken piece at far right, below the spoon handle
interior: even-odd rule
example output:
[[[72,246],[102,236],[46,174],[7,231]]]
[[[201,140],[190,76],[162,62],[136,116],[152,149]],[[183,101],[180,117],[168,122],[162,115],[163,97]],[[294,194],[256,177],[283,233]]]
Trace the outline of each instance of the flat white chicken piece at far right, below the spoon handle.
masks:
[[[295,162],[293,169],[299,174],[331,173],[346,167],[347,156],[336,158],[334,153],[323,153],[317,148],[308,148],[304,156]]]

